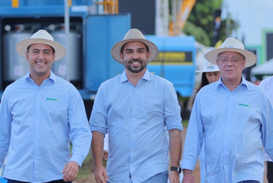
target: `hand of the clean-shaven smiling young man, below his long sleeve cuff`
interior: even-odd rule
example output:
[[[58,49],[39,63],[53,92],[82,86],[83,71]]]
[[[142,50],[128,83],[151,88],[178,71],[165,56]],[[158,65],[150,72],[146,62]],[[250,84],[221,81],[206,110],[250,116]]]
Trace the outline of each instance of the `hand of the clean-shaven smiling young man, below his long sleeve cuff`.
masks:
[[[64,169],[62,171],[63,178],[65,182],[73,181],[74,178],[76,178],[78,172],[79,172],[79,164],[75,161],[69,161],[67,164],[65,164]]]

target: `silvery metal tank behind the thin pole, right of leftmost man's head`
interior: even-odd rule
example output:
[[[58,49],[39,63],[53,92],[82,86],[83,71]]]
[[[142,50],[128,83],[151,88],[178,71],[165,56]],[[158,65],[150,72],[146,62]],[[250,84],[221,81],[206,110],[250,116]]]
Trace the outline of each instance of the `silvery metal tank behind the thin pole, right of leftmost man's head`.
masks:
[[[82,36],[74,30],[69,31],[69,36],[65,36],[65,27],[51,32],[54,41],[62,44],[68,50],[64,58],[53,62],[51,70],[54,74],[68,80],[77,88],[82,88]],[[66,45],[68,39],[68,46]],[[67,60],[67,57],[69,58]],[[67,63],[68,62],[68,63]]]

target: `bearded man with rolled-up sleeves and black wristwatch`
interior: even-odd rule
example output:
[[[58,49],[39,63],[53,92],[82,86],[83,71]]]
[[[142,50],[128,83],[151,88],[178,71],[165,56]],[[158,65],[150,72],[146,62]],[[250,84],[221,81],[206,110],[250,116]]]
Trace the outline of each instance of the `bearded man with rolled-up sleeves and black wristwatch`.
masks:
[[[101,84],[90,128],[95,178],[98,183],[167,183],[170,135],[170,182],[179,182],[181,117],[172,83],[147,69],[158,48],[137,29],[111,49],[123,64],[122,74]],[[102,165],[103,138],[109,133],[107,173]]]

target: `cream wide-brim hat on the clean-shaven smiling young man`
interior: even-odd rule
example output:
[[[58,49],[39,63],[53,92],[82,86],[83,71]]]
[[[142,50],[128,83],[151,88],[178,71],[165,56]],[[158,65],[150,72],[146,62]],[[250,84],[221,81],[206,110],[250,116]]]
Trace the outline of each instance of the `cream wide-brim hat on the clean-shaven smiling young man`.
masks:
[[[65,47],[54,41],[53,37],[45,30],[39,30],[29,39],[21,40],[19,43],[17,43],[15,49],[20,56],[26,58],[28,46],[36,43],[42,43],[51,46],[55,50],[55,61],[60,60],[66,54]]]

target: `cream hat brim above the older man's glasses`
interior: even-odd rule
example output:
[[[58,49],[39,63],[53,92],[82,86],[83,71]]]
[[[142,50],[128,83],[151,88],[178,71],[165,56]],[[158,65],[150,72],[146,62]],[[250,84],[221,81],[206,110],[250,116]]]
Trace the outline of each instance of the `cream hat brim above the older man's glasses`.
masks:
[[[217,48],[217,49],[209,51],[206,54],[206,59],[209,62],[217,65],[217,62],[216,62],[217,56],[222,52],[228,52],[228,51],[237,52],[237,53],[241,53],[242,55],[244,55],[244,57],[245,57],[244,67],[245,68],[253,66],[257,61],[257,57],[256,57],[256,55],[254,53],[252,53],[250,51],[247,51],[247,50],[244,50],[244,49],[239,49],[239,48]]]

